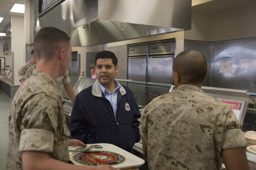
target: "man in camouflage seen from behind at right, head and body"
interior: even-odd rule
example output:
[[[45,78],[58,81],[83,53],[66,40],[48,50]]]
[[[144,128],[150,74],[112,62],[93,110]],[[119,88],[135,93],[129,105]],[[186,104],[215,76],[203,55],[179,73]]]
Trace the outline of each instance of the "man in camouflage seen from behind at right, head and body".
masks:
[[[153,99],[142,111],[140,134],[149,169],[248,170],[246,141],[234,112],[203,93],[207,63],[197,50],[174,59],[177,90]]]

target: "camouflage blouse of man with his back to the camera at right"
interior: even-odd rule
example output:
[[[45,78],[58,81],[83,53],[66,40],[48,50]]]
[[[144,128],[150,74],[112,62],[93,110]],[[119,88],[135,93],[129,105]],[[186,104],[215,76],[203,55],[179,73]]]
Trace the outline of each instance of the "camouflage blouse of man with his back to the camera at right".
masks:
[[[187,84],[155,98],[141,113],[152,170],[220,169],[222,149],[246,146],[240,128],[226,104]]]

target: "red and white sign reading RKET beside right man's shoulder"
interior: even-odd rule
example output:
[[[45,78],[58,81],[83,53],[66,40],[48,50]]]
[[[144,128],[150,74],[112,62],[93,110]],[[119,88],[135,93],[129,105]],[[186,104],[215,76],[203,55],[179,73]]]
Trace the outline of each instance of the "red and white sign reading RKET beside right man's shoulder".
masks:
[[[242,113],[245,106],[245,100],[227,99],[227,98],[221,98],[221,97],[217,97],[217,99],[224,102],[226,105],[228,105],[230,109],[232,109],[233,112],[235,113],[237,120],[238,121],[241,120]]]

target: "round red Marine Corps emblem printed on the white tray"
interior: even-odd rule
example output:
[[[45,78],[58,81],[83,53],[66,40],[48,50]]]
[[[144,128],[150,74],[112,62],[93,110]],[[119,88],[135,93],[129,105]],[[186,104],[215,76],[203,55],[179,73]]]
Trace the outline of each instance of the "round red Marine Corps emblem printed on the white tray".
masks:
[[[72,157],[72,161],[81,165],[93,165],[105,163],[117,165],[126,161],[123,155],[109,151],[80,152]]]

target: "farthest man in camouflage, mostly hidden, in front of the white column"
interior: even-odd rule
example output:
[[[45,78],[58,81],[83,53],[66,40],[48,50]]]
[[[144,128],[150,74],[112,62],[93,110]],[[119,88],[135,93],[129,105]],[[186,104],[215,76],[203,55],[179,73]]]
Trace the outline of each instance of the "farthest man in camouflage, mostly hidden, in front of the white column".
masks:
[[[26,80],[26,72],[27,70],[34,64],[36,64],[36,58],[34,55],[34,49],[31,51],[31,58],[30,61],[24,64],[19,70],[18,70],[18,75],[19,75],[19,81],[20,84],[22,84]]]

